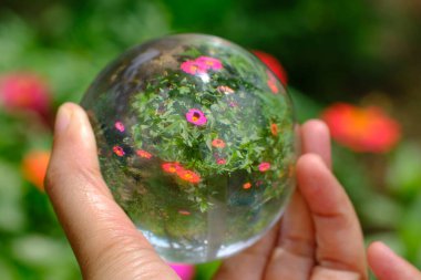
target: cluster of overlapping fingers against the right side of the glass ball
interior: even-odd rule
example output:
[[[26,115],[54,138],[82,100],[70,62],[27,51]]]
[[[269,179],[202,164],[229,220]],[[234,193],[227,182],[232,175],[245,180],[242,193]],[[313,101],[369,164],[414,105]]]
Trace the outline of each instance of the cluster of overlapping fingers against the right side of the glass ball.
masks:
[[[368,278],[357,215],[330,172],[328,128],[309,121],[300,132],[304,155],[297,163],[298,189],[279,227],[225,260],[217,280]]]

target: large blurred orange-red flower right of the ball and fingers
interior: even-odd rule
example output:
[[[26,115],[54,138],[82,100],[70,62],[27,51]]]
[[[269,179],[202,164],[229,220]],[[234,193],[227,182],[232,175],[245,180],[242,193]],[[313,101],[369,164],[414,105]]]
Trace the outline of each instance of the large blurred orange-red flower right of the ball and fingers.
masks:
[[[328,107],[321,118],[329,126],[332,138],[356,152],[389,152],[401,136],[399,123],[380,107],[337,103]]]

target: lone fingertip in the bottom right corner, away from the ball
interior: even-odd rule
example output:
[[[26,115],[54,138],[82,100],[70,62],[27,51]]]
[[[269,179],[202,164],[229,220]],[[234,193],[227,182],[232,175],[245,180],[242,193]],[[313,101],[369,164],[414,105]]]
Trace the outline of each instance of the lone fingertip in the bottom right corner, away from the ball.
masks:
[[[379,280],[420,280],[421,272],[382,242],[368,248],[368,261]]]

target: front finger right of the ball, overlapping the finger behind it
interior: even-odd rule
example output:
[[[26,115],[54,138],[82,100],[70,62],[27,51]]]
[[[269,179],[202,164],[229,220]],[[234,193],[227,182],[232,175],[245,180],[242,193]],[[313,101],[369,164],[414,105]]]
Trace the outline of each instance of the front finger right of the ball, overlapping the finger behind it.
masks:
[[[362,232],[353,207],[324,159],[314,154],[297,163],[299,190],[316,230],[318,266],[355,271],[367,279]]]

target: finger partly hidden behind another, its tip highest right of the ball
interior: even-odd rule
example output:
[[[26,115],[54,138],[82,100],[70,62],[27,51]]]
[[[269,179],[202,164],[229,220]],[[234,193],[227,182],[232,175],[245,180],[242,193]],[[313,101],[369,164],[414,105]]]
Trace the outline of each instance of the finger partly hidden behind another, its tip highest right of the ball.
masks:
[[[300,131],[301,151],[318,154],[330,166],[329,129],[308,121]],[[266,279],[308,279],[314,266],[315,229],[310,211],[297,190],[283,217],[280,236],[266,271]]]

